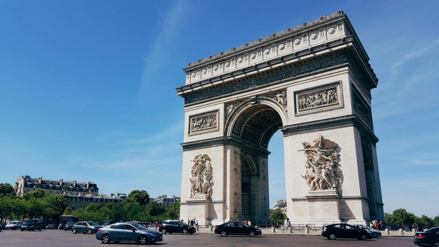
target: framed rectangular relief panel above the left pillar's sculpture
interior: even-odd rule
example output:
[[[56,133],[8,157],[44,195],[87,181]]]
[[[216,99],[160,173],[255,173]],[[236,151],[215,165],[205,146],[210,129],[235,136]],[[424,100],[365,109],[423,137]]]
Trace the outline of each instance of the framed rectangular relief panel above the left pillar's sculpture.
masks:
[[[189,116],[189,134],[198,134],[219,130],[219,109]]]

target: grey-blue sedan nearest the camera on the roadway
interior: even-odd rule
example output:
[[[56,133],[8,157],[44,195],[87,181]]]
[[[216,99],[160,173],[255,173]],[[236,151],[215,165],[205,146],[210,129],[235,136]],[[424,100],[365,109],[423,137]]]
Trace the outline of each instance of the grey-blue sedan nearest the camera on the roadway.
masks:
[[[97,229],[96,239],[102,243],[137,242],[140,244],[163,241],[162,232],[149,230],[137,223],[116,223]]]

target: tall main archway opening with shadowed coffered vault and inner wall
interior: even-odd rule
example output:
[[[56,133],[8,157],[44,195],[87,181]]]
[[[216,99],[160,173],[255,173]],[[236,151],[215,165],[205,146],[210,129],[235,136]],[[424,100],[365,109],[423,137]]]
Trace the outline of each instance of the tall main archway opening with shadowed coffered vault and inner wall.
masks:
[[[279,131],[283,123],[278,111],[279,109],[276,110],[270,105],[250,105],[241,111],[232,125],[231,136],[245,144],[241,147],[240,156],[242,220],[247,219],[254,223],[270,220],[270,208],[274,203],[270,202],[272,190],[269,173],[273,172],[274,175],[270,180],[275,191],[274,198],[279,200],[279,196],[285,196],[283,138]],[[276,136],[276,141],[273,142],[276,150],[272,159],[268,145],[273,136]],[[272,166],[273,169],[268,167],[269,154],[270,163],[274,161],[276,164]]]

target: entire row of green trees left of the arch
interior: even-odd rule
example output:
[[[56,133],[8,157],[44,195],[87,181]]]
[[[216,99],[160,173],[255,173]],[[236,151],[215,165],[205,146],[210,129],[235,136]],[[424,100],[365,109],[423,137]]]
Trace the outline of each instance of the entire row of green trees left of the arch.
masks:
[[[58,219],[60,215],[75,215],[80,221],[105,222],[140,221],[155,222],[156,220],[178,219],[180,201],[173,203],[167,210],[161,203],[150,201],[144,190],[133,190],[120,203],[90,203],[85,208],[75,211],[68,207],[68,201],[58,194],[49,194],[43,189],[15,196],[10,184],[0,184],[0,222],[9,219],[46,218]]]

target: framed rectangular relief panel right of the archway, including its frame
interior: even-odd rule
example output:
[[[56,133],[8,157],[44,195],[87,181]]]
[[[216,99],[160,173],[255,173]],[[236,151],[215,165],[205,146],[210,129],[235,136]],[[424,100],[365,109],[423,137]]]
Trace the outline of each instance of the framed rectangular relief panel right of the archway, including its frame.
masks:
[[[341,82],[295,92],[296,115],[342,107]]]

